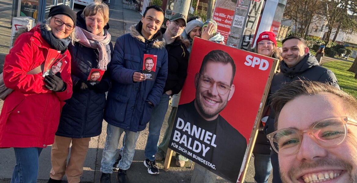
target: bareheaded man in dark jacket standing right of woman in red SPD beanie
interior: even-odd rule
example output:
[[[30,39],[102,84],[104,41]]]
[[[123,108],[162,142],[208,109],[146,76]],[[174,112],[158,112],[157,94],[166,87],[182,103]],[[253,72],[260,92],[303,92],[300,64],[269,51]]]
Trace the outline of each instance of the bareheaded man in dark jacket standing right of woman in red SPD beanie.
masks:
[[[270,87],[270,95],[275,93],[285,82],[296,80],[320,81],[328,83],[338,89],[335,74],[325,67],[321,67],[314,56],[309,53],[306,42],[301,37],[290,36],[282,41],[283,62],[280,65],[280,72],[274,75]],[[274,128],[275,111],[270,108],[270,115],[265,124],[265,133],[269,134]],[[267,142],[268,143],[268,142]],[[281,183],[279,174],[278,155],[271,152],[271,163],[273,166],[273,182]]]

